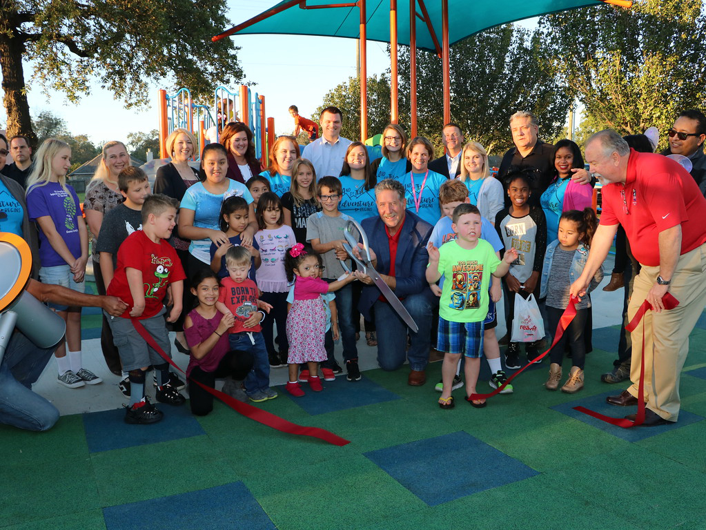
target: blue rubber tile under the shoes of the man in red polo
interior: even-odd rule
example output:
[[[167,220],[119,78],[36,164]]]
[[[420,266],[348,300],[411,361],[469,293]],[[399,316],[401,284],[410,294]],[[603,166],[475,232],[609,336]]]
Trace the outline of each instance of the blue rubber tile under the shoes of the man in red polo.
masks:
[[[698,416],[698,414],[692,414],[682,409],[679,411],[679,421],[676,423],[669,423],[668,425],[658,427],[630,427],[626,429],[616,427],[597,418],[592,418],[588,414],[583,414],[573,409],[575,406],[585,406],[587,409],[598,412],[599,414],[604,414],[605,416],[610,416],[611,418],[624,418],[628,414],[635,414],[635,412],[638,411],[637,406],[614,406],[606,403],[606,397],[616,395],[617,393],[617,391],[605,392],[604,394],[588,396],[572,402],[555,405],[551,408],[628,442],[639,442],[640,440],[645,440],[645,438],[666,433],[668,430],[678,429],[703,419],[703,417]]]

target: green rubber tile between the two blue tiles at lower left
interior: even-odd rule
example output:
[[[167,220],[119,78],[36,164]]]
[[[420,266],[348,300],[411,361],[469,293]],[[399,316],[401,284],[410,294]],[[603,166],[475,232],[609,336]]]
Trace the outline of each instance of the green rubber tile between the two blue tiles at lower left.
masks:
[[[102,506],[239,480],[206,436],[94,453],[91,460]]]

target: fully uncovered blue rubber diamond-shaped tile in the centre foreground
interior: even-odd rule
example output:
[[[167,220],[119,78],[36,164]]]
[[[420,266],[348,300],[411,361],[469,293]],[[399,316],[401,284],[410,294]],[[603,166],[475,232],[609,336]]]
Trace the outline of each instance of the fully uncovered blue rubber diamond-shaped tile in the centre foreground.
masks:
[[[429,506],[539,474],[464,431],[364,455]]]

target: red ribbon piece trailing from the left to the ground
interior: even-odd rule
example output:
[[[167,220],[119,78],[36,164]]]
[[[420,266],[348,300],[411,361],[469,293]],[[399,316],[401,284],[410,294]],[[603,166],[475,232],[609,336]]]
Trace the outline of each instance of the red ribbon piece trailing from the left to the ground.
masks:
[[[140,337],[145,339],[147,344],[149,344],[152,349],[154,349],[158,354],[160,354],[164,361],[167,361],[167,363],[174,366],[174,368],[177,368],[177,370],[179,370],[181,373],[184,373],[184,371],[179,368],[179,366],[177,366],[177,364],[174,363],[174,361],[172,361],[172,359],[170,359],[167,354],[164,353],[162,348],[160,348],[159,344],[155,342],[155,339],[153,339],[152,335],[150,335],[148,331],[145,330],[145,327],[142,325],[142,323],[140,323],[139,320],[133,318],[132,323],[135,326],[137,332],[140,334]],[[281,430],[282,433],[296,434],[299,436],[311,436],[313,438],[319,438],[324,442],[328,442],[331,445],[337,445],[339,447],[350,443],[350,440],[341,438],[340,436],[335,435],[334,433],[331,433],[328,430],[318,427],[303,427],[301,425],[297,425],[297,423],[292,423],[291,421],[287,421],[283,418],[280,418],[280,416],[275,416],[275,414],[272,414],[268,411],[258,409],[256,406],[252,406],[249,403],[239,402],[237,399],[234,399],[233,397],[225,394],[224,392],[221,392],[220,390],[215,390],[215,388],[208,387],[199,381],[194,381],[193,379],[189,379],[189,381],[191,381],[191,383],[196,383],[198,386],[203,388],[203,390],[217,397],[234,411],[238,412],[239,414],[242,414],[243,416],[246,416],[246,418],[250,418],[253,421],[257,421],[258,423],[262,423],[263,425],[266,425],[273,429]]]

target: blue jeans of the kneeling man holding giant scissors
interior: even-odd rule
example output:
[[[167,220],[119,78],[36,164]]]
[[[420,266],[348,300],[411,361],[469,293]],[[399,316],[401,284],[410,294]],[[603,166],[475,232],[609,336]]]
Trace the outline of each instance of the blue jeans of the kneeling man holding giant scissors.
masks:
[[[426,289],[428,291],[429,289]],[[389,303],[376,301],[375,325],[378,333],[378,364],[383,370],[397,370],[405,363],[407,335],[412,346],[407,351],[409,367],[412,370],[423,371],[429,363],[429,348],[431,347],[431,291],[412,294],[402,300],[407,312],[417,323],[417,333],[409,330],[405,322]]]

